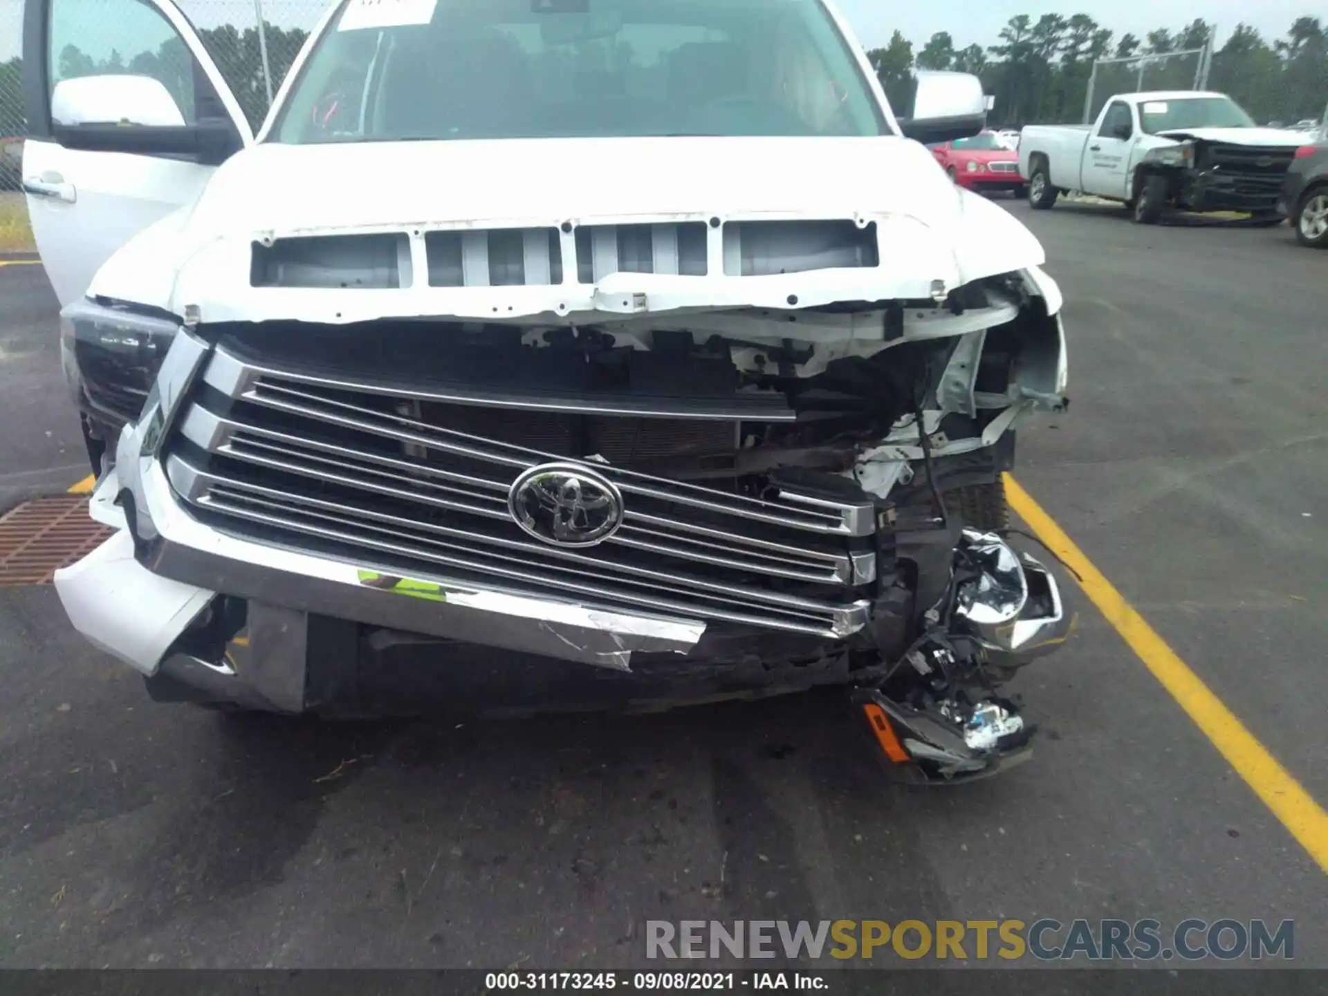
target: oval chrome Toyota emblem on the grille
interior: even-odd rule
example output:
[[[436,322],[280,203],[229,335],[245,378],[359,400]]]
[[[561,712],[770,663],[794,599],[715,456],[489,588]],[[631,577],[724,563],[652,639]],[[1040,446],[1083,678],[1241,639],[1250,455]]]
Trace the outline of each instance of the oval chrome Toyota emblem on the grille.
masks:
[[[623,495],[579,463],[540,463],[513,481],[507,511],[526,533],[554,546],[594,546],[623,525]]]

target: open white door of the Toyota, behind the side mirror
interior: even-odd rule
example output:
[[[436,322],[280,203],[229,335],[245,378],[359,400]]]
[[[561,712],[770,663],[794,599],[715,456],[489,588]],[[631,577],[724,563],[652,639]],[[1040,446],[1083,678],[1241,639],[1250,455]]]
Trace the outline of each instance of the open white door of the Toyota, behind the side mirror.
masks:
[[[86,0],[27,0],[27,5],[29,15],[48,25],[41,50],[24,53],[25,60],[45,66],[44,106],[49,108],[61,81],[86,78],[89,84],[77,89],[82,113],[61,100],[57,120],[48,114],[42,127],[33,127],[23,157],[33,236],[56,296],[65,305],[84,295],[101,266],[129,239],[193,202],[216,170],[187,155],[139,154],[139,146],[133,146],[134,153],[109,151],[93,141],[94,151],[86,147],[86,138],[78,149],[61,145],[62,135],[77,143],[69,138],[70,126],[125,120],[138,122],[139,133],[158,134],[151,129],[163,122],[159,116],[120,112],[117,92],[145,90],[129,86],[125,74],[147,77],[139,82],[150,82],[161,101],[178,106],[179,126],[163,127],[161,134],[222,114],[231,120],[239,143],[250,145],[254,137],[216,65],[171,0],[100,0],[94,7]],[[98,81],[90,77],[126,85],[98,90]],[[68,97],[72,86],[62,86],[61,96]]]

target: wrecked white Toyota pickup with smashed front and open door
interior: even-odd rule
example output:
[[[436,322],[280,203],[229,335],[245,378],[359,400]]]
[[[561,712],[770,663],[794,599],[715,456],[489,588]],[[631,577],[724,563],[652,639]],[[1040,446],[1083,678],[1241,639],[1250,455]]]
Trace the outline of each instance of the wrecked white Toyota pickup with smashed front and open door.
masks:
[[[24,187],[154,699],[410,712],[853,689],[891,770],[1028,753],[1004,539],[1065,404],[1037,240],[825,0],[343,0],[258,134],[170,0],[27,0]],[[120,56],[106,62],[117,46]]]

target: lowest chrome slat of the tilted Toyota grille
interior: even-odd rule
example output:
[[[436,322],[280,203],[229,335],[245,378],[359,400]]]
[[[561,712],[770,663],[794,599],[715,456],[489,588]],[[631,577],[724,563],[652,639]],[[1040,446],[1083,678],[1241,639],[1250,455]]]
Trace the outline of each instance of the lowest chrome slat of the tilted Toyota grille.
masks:
[[[230,501],[227,501],[227,498],[230,498]],[[246,507],[246,501],[256,505],[272,505],[274,511],[256,511]],[[655,608],[656,611],[675,611],[683,615],[700,615],[748,623],[752,625],[826,636],[853,632],[861,628],[865,622],[863,606],[819,606],[817,607],[819,611],[793,606],[761,606],[744,600],[741,598],[741,592],[734,595],[717,595],[712,596],[709,600],[701,600],[705,598],[704,592],[676,588],[667,584],[648,584],[648,591],[636,592],[629,587],[633,582],[620,576],[596,579],[586,571],[564,568],[552,568],[556,574],[550,574],[551,568],[547,566],[523,564],[510,556],[495,556],[493,551],[489,550],[462,551],[461,554],[446,552],[449,548],[448,546],[430,538],[416,535],[410,537],[412,542],[409,544],[404,544],[401,542],[380,539],[374,535],[365,535],[365,533],[382,533],[393,538],[400,537],[400,534],[390,533],[377,526],[371,526],[355,519],[337,518],[324,513],[283,509],[282,506],[264,502],[263,499],[236,499],[235,497],[227,495],[224,491],[211,494],[210,498],[202,505],[203,507],[223,511],[228,515],[244,518],[251,522],[260,522],[324,539],[341,539],[348,543],[353,543],[356,547],[369,547],[380,554],[422,559],[434,564],[450,567],[453,570],[473,571],[485,576],[497,576],[506,582],[521,582],[559,592],[579,592],[582,595],[603,599],[606,606],[620,606],[622,603],[627,603],[631,606]],[[317,519],[319,525],[301,522],[299,518],[291,518],[292,514],[308,515],[309,518]],[[335,526],[340,526],[340,529]],[[434,550],[432,547],[440,548]],[[466,554],[469,554],[469,556]],[[506,567],[503,566],[505,563],[515,566]],[[538,570],[539,572],[533,572],[531,568]],[[580,578],[590,578],[590,580],[580,580]],[[611,582],[614,587],[604,587],[603,582]],[[645,584],[644,582],[639,583]],[[692,598],[697,599],[697,602],[683,602],[677,598],[660,598],[659,592]]]

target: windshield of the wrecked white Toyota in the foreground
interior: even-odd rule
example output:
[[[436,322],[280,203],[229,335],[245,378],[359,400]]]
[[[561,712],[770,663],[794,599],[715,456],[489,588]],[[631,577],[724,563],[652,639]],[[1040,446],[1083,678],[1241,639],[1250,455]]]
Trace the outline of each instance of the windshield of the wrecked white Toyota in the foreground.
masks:
[[[278,142],[876,135],[821,0],[348,0]]]

